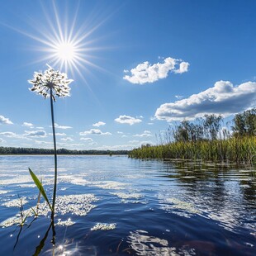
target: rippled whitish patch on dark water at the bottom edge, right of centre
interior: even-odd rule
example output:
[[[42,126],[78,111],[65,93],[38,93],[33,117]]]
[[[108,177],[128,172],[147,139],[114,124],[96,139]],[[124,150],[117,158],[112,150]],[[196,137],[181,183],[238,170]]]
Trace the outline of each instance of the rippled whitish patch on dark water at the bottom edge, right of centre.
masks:
[[[188,247],[186,249],[176,249],[175,247],[170,247],[168,240],[149,235],[145,230],[130,232],[127,242],[136,255],[195,255],[195,249]]]

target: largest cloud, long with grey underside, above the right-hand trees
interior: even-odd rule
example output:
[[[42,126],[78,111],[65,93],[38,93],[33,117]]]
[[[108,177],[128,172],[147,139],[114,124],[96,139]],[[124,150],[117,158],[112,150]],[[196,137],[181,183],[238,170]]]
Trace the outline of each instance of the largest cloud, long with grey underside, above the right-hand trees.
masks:
[[[206,114],[230,116],[249,107],[256,107],[256,83],[247,82],[234,86],[229,81],[218,81],[206,91],[161,105],[156,110],[155,117],[165,121],[181,121]]]

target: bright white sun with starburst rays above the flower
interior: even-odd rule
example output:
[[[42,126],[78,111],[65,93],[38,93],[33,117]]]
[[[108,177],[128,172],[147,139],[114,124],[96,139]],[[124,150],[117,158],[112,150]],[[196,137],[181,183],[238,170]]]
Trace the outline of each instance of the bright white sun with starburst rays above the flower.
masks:
[[[31,24],[36,29],[31,34],[11,27],[15,31],[36,40],[39,45],[35,45],[33,50],[41,53],[41,58],[36,59],[33,64],[45,62],[51,67],[59,69],[65,73],[78,73],[80,78],[87,83],[85,75],[90,73],[88,67],[105,71],[92,62],[96,59],[93,51],[106,49],[106,46],[97,46],[97,39],[92,38],[92,34],[106,21],[102,19],[99,23],[92,24],[92,21],[78,24],[78,9],[75,12],[65,13],[60,5],[56,6],[55,1],[51,2],[51,7],[42,5],[45,21]],[[59,14],[60,13],[60,14]],[[69,17],[72,17],[71,19]],[[31,48],[32,49],[32,48]]]

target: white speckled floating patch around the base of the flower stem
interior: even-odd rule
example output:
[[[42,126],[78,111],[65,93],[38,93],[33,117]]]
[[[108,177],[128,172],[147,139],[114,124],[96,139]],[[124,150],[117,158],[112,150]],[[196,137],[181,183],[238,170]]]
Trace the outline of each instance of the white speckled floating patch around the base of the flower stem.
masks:
[[[86,216],[89,211],[96,207],[95,205],[92,205],[92,202],[95,201],[98,201],[98,199],[93,194],[59,196],[56,199],[55,215],[64,216],[69,213],[75,216]],[[38,216],[50,215],[50,209],[46,202],[40,203],[38,206],[34,206],[33,210],[37,212]],[[22,215],[27,217],[35,216],[35,212],[33,210],[30,208],[26,211],[22,211]],[[28,222],[28,220],[26,220],[26,222]],[[8,227],[20,224],[21,213],[18,212],[16,216],[3,220],[0,223],[0,226]]]

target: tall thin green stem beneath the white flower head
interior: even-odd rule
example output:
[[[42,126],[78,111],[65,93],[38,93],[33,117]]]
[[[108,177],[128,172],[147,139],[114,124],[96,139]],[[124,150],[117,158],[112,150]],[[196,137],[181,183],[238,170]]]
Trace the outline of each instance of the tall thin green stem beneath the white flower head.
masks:
[[[56,149],[55,116],[54,116],[54,102],[53,102],[53,91],[52,91],[52,88],[50,88],[50,111],[51,111],[51,123],[52,123],[52,127],[53,127],[54,148],[55,148],[55,186],[54,186],[52,212],[51,212],[51,219],[54,220],[56,190],[57,190],[57,149]]]

